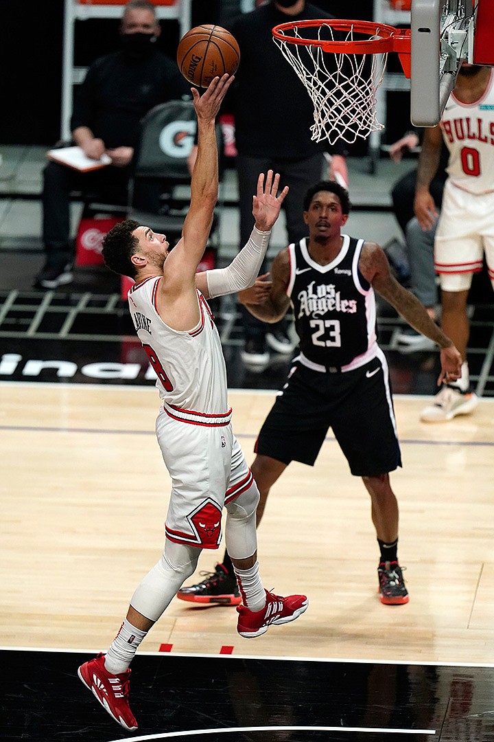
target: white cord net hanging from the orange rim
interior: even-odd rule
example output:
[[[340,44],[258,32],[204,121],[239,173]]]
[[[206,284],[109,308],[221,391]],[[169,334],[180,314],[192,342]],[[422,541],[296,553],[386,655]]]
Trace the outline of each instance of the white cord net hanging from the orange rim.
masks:
[[[361,34],[354,33],[353,27],[343,33],[327,24],[310,30],[318,41],[362,40]],[[307,27],[292,27],[284,35],[286,40],[273,40],[313,100],[312,139],[316,142],[329,139],[331,144],[344,139],[353,144],[357,137],[367,139],[371,131],[384,128],[376,116],[376,93],[384,76],[387,53],[325,52],[320,46],[310,44]],[[293,38],[306,39],[307,44],[290,43],[288,39]],[[365,38],[370,40],[378,38],[378,35]]]

